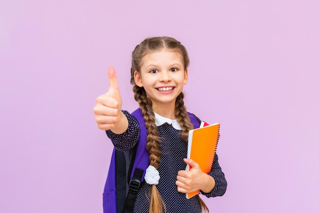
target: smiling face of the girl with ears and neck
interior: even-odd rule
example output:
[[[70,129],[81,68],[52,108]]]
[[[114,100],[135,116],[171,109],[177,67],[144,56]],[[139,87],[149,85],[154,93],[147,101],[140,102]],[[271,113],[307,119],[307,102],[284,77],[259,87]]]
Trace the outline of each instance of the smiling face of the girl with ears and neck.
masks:
[[[175,99],[188,81],[188,70],[184,69],[182,56],[177,51],[149,52],[143,57],[140,72],[134,73],[135,83],[144,87],[152,100],[153,109],[174,109]]]

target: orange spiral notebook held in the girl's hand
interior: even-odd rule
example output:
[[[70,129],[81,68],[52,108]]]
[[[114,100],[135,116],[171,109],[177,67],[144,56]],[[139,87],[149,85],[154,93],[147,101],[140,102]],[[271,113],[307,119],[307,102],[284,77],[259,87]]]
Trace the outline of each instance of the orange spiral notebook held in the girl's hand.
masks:
[[[199,128],[189,131],[187,158],[193,159],[198,163],[204,173],[210,172],[214,161],[219,139],[219,127],[219,123],[208,125],[203,121]],[[190,171],[191,166],[187,165],[185,170]],[[197,190],[187,193],[186,198],[191,198],[199,192]]]

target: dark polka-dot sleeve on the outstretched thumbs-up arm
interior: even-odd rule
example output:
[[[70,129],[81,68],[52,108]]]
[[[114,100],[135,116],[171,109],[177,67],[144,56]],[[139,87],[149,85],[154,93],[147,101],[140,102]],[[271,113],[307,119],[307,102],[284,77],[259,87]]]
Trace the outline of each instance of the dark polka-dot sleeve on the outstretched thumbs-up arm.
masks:
[[[111,139],[115,148],[121,151],[132,149],[140,137],[140,124],[138,120],[127,111],[122,111],[128,120],[128,127],[122,134],[115,134],[111,130],[106,130],[107,136]]]

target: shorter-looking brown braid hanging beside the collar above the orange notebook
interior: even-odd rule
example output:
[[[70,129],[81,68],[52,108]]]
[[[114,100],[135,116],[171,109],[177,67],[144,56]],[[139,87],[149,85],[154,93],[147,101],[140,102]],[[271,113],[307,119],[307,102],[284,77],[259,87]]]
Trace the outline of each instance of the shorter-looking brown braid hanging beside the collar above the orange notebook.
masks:
[[[181,137],[184,141],[187,141],[189,138],[189,131],[193,129],[194,127],[186,112],[183,99],[184,99],[184,94],[181,92],[177,96],[175,101],[175,117],[182,129]]]

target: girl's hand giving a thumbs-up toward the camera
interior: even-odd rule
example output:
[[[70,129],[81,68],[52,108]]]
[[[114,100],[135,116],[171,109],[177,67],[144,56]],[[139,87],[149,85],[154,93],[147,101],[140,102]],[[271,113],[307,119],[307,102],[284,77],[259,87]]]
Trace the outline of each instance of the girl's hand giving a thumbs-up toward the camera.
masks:
[[[95,121],[98,128],[108,130],[116,126],[122,118],[122,98],[117,84],[114,67],[108,69],[109,91],[96,99],[94,107]]]

